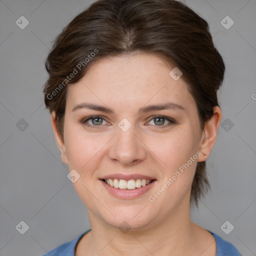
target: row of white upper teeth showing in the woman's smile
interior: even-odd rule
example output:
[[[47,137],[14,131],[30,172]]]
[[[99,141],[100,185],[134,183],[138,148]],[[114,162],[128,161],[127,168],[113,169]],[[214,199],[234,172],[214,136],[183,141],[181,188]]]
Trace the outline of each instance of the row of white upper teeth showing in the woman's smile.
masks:
[[[151,179],[117,179],[108,178],[104,180],[108,185],[119,189],[135,189],[149,184]]]

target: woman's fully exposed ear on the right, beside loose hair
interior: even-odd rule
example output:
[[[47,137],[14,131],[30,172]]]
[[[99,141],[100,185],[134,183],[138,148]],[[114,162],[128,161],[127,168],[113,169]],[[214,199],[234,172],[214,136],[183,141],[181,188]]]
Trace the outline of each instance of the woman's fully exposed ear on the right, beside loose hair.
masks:
[[[201,142],[199,146],[199,151],[201,154],[198,156],[198,162],[205,161],[210,154],[213,145],[215,144],[218,127],[221,121],[221,109],[219,106],[213,107],[213,115],[211,118],[205,122]]]

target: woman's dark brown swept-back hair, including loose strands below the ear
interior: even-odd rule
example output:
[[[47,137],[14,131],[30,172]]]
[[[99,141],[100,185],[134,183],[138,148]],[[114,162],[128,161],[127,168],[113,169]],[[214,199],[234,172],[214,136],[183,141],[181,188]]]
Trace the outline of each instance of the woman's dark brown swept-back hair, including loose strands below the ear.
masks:
[[[213,107],[219,106],[217,90],[225,70],[208,23],[175,0],[97,0],[56,37],[45,61],[49,76],[44,84],[44,102],[50,113],[55,111],[62,138],[65,85],[79,81],[97,60],[135,52],[156,54],[182,71],[203,129]],[[74,70],[77,73],[67,79]],[[197,162],[192,181],[190,201],[196,206],[209,188],[205,167],[205,161]]]

